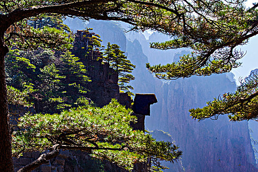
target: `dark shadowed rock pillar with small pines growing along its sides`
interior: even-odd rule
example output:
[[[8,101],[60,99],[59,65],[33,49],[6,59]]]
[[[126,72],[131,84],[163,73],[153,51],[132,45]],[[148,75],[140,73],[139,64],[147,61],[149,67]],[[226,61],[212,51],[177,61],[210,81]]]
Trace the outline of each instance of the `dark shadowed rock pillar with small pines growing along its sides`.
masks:
[[[112,98],[116,98],[121,104],[130,107],[131,98],[127,94],[121,94],[118,86],[118,74],[109,67],[108,63],[103,63],[98,52],[93,52],[92,56],[85,56],[87,37],[85,32],[78,30],[75,35],[72,54],[80,57],[80,60],[86,66],[87,75],[91,82],[87,83],[89,89],[87,97],[94,101],[97,106],[107,105]],[[121,98],[120,98],[121,97]]]

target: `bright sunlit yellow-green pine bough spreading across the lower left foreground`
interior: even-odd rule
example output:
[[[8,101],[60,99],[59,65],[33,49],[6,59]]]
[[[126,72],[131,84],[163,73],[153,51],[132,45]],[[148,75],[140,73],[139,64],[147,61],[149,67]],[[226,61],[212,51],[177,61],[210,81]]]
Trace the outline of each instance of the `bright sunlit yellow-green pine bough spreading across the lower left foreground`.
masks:
[[[170,142],[158,142],[143,131],[129,126],[136,122],[129,109],[113,99],[103,108],[79,107],[54,115],[25,115],[20,118],[12,137],[13,155],[46,149],[79,149],[93,157],[107,159],[120,167],[132,169],[149,156],[174,162],[182,152]]]

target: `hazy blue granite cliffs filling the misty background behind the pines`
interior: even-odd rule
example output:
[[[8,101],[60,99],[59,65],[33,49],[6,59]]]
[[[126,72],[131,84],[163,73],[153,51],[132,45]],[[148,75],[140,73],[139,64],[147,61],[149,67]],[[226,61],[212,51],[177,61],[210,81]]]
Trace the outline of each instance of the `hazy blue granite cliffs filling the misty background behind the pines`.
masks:
[[[91,27],[96,32],[97,28],[111,30],[106,39],[118,45],[127,41],[128,57],[136,65],[132,73],[136,79],[131,82],[134,92],[155,93],[158,99],[152,106],[152,116],[146,118],[146,128],[172,135],[183,150],[182,166],[186,172],[258,172],[247,121],[229,122],[227,116],[219,116],[218,120],[198,122],[189,116],[189,109],[203,107],[213,97],[236,89],[226,74],[162,82],[145,68],[148,57],[141,48],[142,35],[139,34],[141,40],[129,41],[125,36],[115,36],[117,32],[106,28],[109,25],[98,22]],[[99,30],[97,33],[102,39],[106,34]],[[162,57],[162,52],[159,55]],[[183,171],[183,167],[167,171]]]

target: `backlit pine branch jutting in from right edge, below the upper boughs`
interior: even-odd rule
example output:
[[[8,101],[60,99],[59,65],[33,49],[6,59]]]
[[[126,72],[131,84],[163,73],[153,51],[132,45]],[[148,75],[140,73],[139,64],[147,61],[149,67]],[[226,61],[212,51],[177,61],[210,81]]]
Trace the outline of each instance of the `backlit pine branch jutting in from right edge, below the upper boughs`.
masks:
[[[191,116],[195,119],[229,114],[232,121],[258,120],[258,75],[252,73],[241,82],[235,93],[225,93],[223,96],[207,102],[206,107],[191,109]]]

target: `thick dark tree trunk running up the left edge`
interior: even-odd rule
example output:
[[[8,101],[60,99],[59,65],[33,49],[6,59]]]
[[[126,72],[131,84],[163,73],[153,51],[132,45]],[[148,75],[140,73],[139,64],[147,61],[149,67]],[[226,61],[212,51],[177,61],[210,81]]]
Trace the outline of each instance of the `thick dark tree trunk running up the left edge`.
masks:
[[[3,35],[3,34],[2,34]],[[13,172],[9,112],[7,105],[7,91],[4,73],[4,56],[8,52],[7,46],[0,38],[0,172]]]

